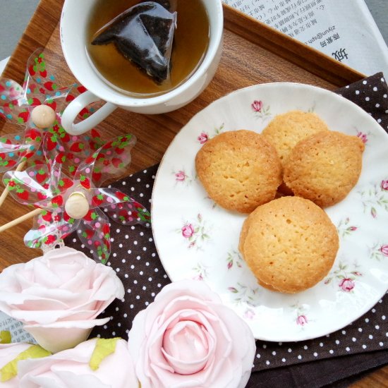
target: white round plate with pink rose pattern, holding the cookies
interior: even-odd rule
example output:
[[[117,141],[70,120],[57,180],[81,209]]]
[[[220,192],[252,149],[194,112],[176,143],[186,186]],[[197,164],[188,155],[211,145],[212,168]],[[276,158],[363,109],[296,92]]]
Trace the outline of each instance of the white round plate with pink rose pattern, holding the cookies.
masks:
[[[325,210],[340,248],[332,270],[307,291],[263,289],[238,252],[245,215],[207,197],[195,154],[208,139],[241,128],[261,132],[291,109],[315,111],[329,128],[365,143],[360,179],[345,200]],[[152,194],[154,241],[172,281],[200,279],[248,322],[257,339],[301,341],[341,329],[372,308],[388,288],[388,135],[356,104],[294,83],[248,87],[200,111],[183,127],[159,166]]]

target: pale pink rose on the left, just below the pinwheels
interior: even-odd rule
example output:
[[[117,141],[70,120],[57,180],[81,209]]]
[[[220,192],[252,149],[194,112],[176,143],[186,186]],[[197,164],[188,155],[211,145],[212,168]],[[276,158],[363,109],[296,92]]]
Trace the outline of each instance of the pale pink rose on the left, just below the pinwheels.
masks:
[[[111,267],[68,247],[0,274],[0,310],[23,322],[51,352],[85,341],[93,327],[109,321],[97,315],[123,296],[123,284]]]

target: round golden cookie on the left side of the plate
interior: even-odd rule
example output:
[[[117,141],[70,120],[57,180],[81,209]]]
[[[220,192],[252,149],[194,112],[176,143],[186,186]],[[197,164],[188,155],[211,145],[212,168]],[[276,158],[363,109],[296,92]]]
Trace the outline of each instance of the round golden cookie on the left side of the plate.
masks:
[[[208,140],[195,157],[195,168],[214,202],[242,213],[272,200],[281,183],[277,152],[253,131],[230,131]]]

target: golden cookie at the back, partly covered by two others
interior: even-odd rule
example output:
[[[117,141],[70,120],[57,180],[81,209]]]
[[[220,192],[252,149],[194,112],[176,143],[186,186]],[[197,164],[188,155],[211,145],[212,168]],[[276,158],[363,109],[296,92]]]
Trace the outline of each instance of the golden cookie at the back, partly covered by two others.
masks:
[[[284,165],[299,141],[328,129],[326,123],[315,113],[288,111],[275,116],[264,128],[262,135],[275,147],[281,164]]]

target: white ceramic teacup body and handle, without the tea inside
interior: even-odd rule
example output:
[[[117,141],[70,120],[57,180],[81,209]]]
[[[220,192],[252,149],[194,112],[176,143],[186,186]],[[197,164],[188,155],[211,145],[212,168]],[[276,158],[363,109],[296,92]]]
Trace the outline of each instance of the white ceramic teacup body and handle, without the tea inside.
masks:
[[[181,0],[188,1],[188,0]],[[66,107],[62,126],[71,135],[85,133],[103,121],[117,107],[141,114],[174,111],[195,99],[207,87],[217,70],[222,54],[224,16],[222,0],[202,0],[210,23],[210,40],[206,54],[193,75],[173,90],[156,97],[137,98],[125,95],[105,83],[87,56],[87,24],[95,0],[66,0],[61,15],[61,45],[68,67],[87,88]],[[190,51],[190,48],[188,48]],[[78,113],[92,102],[105,100],[87,119],[75,123]]]

